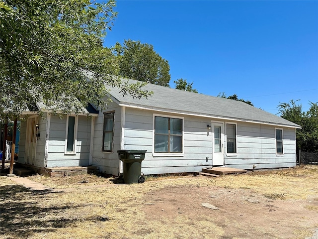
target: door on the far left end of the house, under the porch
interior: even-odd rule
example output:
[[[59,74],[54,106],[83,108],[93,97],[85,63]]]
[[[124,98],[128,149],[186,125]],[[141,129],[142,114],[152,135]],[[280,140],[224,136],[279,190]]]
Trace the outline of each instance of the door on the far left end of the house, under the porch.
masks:
[[[35,129],[35,119],[30,118],[28,119],[28,134],[27,134],[27,160],[28,164],[34,165],[35,161],[35,144],[36,144],[36,129]]]

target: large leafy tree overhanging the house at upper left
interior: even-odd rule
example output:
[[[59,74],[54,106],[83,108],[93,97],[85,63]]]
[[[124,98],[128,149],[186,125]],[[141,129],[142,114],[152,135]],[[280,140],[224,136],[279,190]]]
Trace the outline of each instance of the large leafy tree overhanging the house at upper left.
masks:
[[[114,6],[114,0],[1,0],[0,119],[39,101],[55,113],[78,113],[87,102],[105,108],[107,86],[148,96],[140,85],[110,77],[118,67],[102,39]]]

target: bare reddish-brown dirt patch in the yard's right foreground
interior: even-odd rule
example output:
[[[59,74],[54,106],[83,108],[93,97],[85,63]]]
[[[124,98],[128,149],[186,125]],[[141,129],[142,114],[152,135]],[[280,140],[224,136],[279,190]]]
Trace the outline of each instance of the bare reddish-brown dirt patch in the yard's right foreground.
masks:
[[[173,224],[180,215],[188,224],[208,220],[224,229],[225,234],[217,237],[222,239],[306,238],[306,229],[318,225],[317,211],[307,209],[318,206],[318,201],[270,199],[250,189],[166,187],[145,198],[147,220],[157,218]],[[205,208],[202,203],[219,210]],[[202,238],[217,235],[205,236]]]

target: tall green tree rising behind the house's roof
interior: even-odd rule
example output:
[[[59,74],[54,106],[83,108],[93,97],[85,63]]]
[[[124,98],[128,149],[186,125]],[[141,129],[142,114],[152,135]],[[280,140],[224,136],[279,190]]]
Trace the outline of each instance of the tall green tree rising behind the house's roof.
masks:
[[[155,52],[153,45],[125,40],[123,45],[116,43],[114,53],[118,57],[122,77],[169,87],[170,66]]]

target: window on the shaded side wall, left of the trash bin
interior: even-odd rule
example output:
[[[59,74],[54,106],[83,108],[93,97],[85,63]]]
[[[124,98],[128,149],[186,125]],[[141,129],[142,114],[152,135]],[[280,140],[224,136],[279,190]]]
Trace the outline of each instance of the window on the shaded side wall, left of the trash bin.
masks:
[[[114,112],[104,114],[102,151],[112,152],[114,134]]]

